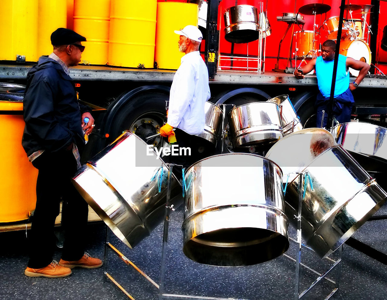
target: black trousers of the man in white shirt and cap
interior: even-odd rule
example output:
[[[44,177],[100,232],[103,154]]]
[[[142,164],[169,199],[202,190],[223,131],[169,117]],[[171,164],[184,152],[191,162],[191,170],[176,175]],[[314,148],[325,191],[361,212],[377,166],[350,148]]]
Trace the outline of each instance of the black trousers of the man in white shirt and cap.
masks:
[[[214,152],[213,145],[209,141],[204,140],[204,138],[200,138],[196,135],[190,135],[189,133],[186,133],[185,131],[179,128],[175,129],[175,135],[175,145],[178,145],[179,149],[190,148],[191,155],[184,155],[185,153],[188,154],[188,152],[182,151],[182,155],[170,155],[168,159],[166,159],[167,162],[177,165],[183,165],[183,167],[187,169],[190,165],[194,164],[195,162],[198,162],[201,159],[204,159],[205,157],[208,157],[209,155],[212,155],[212,152]],[[182,178],[181,167],[173,167],[172,171],[178,180]]]

